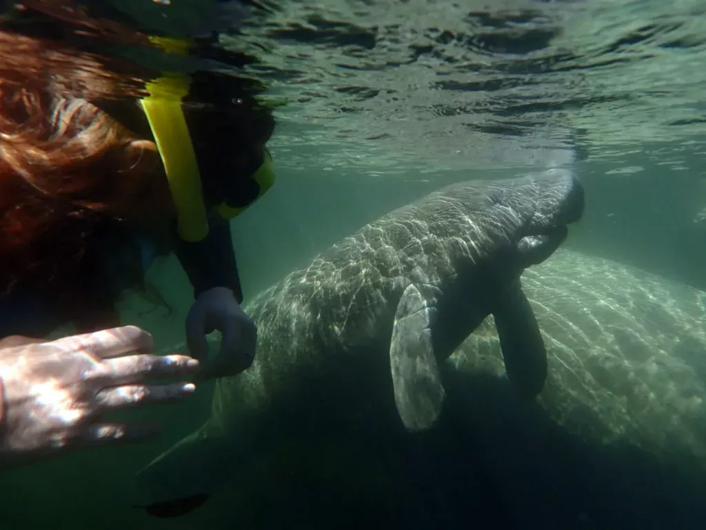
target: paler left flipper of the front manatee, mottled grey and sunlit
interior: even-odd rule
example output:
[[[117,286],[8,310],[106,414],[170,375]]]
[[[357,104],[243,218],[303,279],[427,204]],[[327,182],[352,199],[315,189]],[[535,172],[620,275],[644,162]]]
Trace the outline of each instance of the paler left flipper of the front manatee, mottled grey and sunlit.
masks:
[[[390,370],[395,404],[407,430],[426,430],[441,413],[445,391],[431,341],[437,288],[408,285],[397,304]]]

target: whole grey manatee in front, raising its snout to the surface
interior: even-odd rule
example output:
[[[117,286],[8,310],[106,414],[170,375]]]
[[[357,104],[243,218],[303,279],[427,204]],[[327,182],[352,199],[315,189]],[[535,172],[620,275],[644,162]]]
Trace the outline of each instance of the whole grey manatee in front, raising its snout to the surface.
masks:
[[[489,314],[510,383],[534,399],[546,351],[520,275],[551,256],[583,209],[564,169],[453,184],[289,273],[246,307],[258,323],[255,362],[219,379],[206,423],[138,473],[140,505],[189,511],[254,447],[295,443],[307,425],[342,432],[377,413],[410,435],[429,430],[445,397],[439,363]]]

